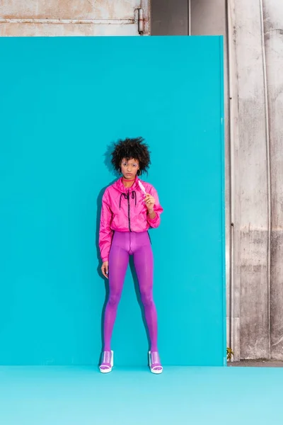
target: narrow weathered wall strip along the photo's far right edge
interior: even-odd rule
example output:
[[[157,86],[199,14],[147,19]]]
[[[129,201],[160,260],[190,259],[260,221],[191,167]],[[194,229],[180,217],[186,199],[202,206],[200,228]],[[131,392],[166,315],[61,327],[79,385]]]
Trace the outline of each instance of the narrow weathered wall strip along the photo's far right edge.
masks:
[[[283,360],[283,2],[264,1],[271,159],[271,356]]]

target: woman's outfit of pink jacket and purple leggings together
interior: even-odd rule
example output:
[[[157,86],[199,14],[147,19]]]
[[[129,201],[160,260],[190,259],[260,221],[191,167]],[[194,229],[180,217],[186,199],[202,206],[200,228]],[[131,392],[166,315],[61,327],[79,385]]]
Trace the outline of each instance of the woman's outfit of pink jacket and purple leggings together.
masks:
[[[151,353],[157,352],[157,317],[153,299],[154,260],[149,239],[149,227],[160,225],[163,208],[153,186],[141,181],[155,198],[153,220],[144,203],[144,193],[136,177],[130,188],[125,188],[122,179],[106,188],[103,194],[100,217],[99,248],[102,261],[109,261],[109,298],[104,319],[104,351],[110,351],[110,341],[114,326],[117,305],[122,294],[122,287],[129,263],[129,256],[134,257],[134,267],[139,280],[141,301],[144,305],[146,324],[151,340]]]

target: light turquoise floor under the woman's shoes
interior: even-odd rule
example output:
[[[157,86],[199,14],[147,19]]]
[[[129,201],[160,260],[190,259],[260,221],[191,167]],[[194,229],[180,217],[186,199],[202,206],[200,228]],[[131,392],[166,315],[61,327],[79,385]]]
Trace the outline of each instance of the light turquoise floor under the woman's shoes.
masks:
[[[282,382],[283,368],[0,367],[0,424],[280,424]]]

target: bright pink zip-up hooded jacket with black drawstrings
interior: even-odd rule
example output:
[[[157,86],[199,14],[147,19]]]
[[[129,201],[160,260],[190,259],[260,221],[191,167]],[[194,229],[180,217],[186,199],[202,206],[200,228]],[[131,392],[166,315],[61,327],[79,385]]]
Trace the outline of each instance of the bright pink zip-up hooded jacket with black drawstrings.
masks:
[[[113,232],[146,232],[149,227],[160,225],[163,208],[159,204],[157,192],[154,186],[141,181],[146,193],[155,198],[156,217],[151,220],[138,180],[136,178],[132,187],[125,188],[121,178],[108,186],[103,194],[99,229],[99,249],[102,261],[108,261]]]

